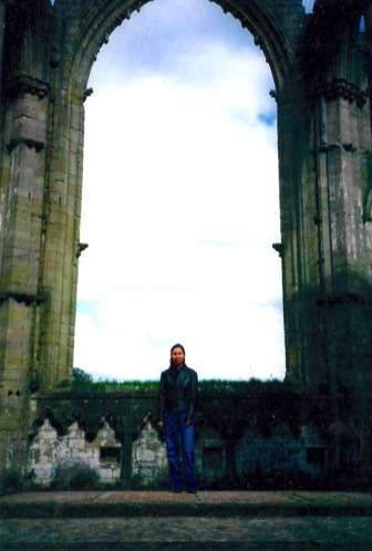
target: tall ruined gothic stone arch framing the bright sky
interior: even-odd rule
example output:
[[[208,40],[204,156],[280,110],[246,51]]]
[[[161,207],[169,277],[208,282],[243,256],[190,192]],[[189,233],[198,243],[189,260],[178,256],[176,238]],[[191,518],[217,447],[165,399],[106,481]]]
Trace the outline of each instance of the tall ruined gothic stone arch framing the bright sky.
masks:
[[[72,377],[84,100],[144,0],[0,0],[0,461],[24,464],[30,393]],[[250,31],[278,104],[287,380],[371,387],[371,0],[216,0]],[[359,24],[364,18],[365,30]],[[356,420],[355,420],[356,423]],[[7,456],[8,455],[8,456]]]

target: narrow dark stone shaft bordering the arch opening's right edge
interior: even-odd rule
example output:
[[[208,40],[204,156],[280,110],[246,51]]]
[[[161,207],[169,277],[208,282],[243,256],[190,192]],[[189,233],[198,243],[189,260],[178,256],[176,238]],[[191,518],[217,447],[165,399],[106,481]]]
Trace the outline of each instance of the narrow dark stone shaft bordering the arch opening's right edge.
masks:
[[[308,185],[311,167],[309,170],[303,160],[309,124],[296,79],[278,93],[277,101],[281,243],[277,243],[276,249],[282,260],[287,380],[308,387],[311,364],[308,355],[309,294],[312,292],[314,239],[313,197]]]

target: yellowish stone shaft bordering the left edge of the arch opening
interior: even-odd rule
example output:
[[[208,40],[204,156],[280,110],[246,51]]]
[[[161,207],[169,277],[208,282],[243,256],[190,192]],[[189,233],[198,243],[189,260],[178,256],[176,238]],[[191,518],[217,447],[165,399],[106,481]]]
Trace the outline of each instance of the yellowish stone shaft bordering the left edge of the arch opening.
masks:
[[[72,380],[84,141],[83,97],[55,91],[42,291],[41,365],[45,388]]]

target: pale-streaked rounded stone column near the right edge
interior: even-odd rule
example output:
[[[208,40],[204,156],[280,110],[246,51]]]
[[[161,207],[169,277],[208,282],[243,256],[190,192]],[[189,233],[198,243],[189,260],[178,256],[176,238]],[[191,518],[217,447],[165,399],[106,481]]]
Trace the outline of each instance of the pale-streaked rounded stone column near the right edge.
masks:
[[[330,383],[350,392],[363,378],[363,331],[371,293],[363,221],[363,178],[370,132],[361,127],[369,105],[355,86],[334,82],[320,90],[317,147],[321,293]],[[369,134],[369,135],[368,135]],[[365,318],[365,319],[364,319]],[[368,323],[369,325],[370,323]],[[366,343],[365,343],[366,344]],[[369,346],[370,349],[370,346]],[[363,382],[365,384],[366,381]]]

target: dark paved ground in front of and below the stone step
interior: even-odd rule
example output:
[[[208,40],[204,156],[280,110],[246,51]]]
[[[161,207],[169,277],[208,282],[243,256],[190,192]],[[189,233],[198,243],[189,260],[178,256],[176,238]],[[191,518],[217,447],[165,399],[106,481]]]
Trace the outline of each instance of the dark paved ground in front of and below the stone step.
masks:
[[[372,549],[370,518],[106,518],[7,520],[12,549]],[[368,534],[368,538],[366,538]]]

